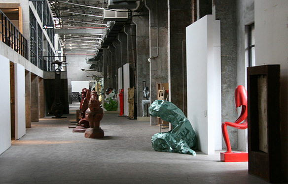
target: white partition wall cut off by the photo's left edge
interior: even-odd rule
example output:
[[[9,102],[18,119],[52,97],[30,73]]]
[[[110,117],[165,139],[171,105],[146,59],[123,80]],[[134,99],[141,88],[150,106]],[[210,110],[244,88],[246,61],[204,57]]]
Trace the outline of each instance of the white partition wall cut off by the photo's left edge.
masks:
[[[11,111],[10,111],[10,61],[0,55],[0,154],[11,146]]]

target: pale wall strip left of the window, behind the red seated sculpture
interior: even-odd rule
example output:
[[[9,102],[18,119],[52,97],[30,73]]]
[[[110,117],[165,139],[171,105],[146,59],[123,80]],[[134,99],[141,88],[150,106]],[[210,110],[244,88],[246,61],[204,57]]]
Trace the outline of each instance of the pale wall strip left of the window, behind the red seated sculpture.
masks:
[[[237,85],[247,89],[248,31],[254,22],[254,0],[237,0]],[[239,112],[240,113],[240,112]],[[247,130],[238,130],[238,150],[248,151]]]

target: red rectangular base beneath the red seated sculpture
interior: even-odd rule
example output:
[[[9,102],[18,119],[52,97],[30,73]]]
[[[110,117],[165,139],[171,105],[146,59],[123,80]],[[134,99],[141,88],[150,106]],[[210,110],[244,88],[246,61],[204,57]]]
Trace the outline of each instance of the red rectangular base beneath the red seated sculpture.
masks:
[[[231,152],[231,153],[220,153],[220,158],[222,162],[247,162],[248,153],[247,152]]]

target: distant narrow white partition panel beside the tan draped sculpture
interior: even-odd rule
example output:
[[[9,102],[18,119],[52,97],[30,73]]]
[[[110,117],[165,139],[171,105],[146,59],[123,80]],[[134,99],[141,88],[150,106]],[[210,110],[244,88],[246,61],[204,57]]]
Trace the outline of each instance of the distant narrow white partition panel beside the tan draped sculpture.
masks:
[[[130,88],[129,63],[123,65],[123,89],[124,89],[124,116],[129,115],[128,88]]]

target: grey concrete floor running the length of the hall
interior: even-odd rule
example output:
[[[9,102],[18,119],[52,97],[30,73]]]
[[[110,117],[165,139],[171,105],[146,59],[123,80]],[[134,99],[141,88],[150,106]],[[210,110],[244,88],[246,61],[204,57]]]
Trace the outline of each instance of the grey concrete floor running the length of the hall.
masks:
[[[159,126],[105,114],[103,139],[72,133],[64,119],[46,117],[0,155],[0,184],[267,184],[247,162],[220,162],[220,151],[196,156],[155,152]],[[167,131],[167,130],[166,130]]]

